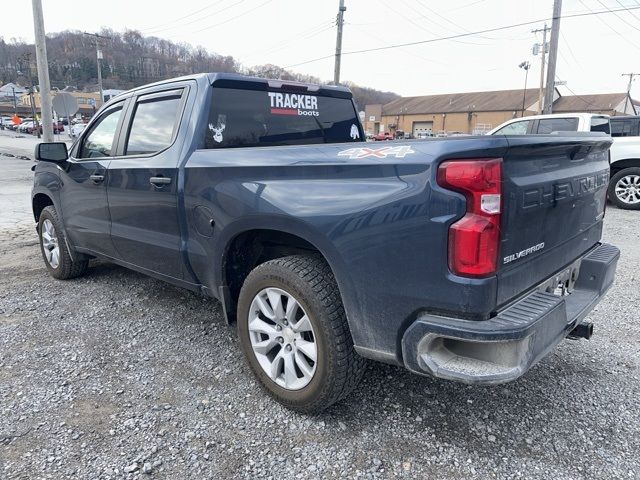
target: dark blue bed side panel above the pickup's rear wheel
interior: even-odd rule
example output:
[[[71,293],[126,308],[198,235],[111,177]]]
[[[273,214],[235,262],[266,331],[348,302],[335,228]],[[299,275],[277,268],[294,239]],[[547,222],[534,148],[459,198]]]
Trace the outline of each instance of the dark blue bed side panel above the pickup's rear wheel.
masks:
[[[298,235],[331,265],[356,345],[394,360],[398,334],[420,310],[488,314],[495,278],[449,273],[448,226],[464,214],[465,200],[435,185],[434,166],[452,156],[500,157],[506,141],[461,137],[376,148],[389,145],[410,145],[414,153],[338,155],[353,143],[195,151],[184,173],[187,218],[204,208],[215,220],[209,237],[189,227],[195,276],[214,291],[222,285],[226,248],[244,231]]]

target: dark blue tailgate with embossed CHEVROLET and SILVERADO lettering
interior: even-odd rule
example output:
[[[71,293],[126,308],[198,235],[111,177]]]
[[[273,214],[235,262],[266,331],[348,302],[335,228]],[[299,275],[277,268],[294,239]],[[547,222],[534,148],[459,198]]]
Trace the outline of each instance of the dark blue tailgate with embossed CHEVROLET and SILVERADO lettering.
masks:
[[[570,264],[600,240],[611,139],[507,137],[497,303]]]

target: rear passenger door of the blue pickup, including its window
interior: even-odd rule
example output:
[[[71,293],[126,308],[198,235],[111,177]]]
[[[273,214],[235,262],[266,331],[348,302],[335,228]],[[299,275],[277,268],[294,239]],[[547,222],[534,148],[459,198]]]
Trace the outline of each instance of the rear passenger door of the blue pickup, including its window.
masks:
[[[175,87],[132,98],[107,184],[118,258],[177,279],[182,261],[175,138],[185,98],[185,88]]]

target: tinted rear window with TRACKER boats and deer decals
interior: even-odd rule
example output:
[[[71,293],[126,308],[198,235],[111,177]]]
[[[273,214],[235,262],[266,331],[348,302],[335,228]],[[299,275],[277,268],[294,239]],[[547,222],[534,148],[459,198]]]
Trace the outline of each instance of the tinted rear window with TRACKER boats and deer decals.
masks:
[[[205,148],[362,140],[351,99],[313,93],[213,89]]]

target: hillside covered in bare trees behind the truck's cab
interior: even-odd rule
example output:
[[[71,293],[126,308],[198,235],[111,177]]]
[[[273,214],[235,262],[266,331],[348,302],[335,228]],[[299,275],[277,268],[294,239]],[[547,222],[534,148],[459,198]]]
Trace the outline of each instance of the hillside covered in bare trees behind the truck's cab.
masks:
[[[319,78],[287,71],[276,65],[246,67],[231,56],[208,52],[203,47],[146,37],[135,30],[124,33],[103,30],[110,37],[102,42],[102,79],[107,88],[129,89],[145,83],[198,72],[237,72],[267,78],[326,83]],[[47,54],[51,86],[95,90],[97,83],[95,40],[79,31],[64,31],[47,36]],[[37,82],[35,47],[12,39],[0,38],[0,82],[29,86]],[[386,103],[398,98],[345,82],[353,91],[360,108],[368,103]]]

